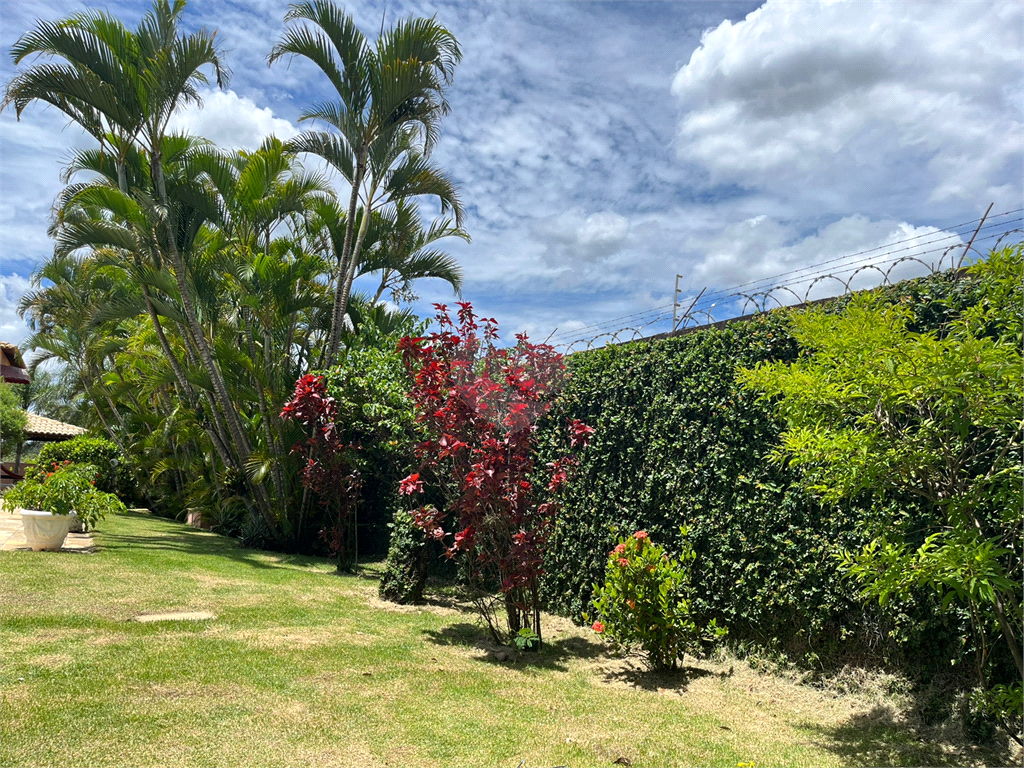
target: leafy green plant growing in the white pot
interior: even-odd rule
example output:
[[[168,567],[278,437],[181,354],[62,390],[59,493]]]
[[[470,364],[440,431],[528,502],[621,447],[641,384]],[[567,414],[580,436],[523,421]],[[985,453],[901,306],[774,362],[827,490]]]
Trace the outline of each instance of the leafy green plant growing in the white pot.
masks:
[[[91,464],[52,465],[41,477],[27,477],[8,490],[4,503],[55,515],[74,512],[88,530],[108,514],[127,511],[116,496],[96,489],[96,476]]]

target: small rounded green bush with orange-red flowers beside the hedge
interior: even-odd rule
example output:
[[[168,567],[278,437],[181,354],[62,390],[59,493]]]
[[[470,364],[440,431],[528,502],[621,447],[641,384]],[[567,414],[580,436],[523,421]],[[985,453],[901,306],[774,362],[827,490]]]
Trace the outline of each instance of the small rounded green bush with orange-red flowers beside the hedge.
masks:
[[[604,586],[594,585],[598,618],[591,629],[616,649],[639,648],[655,670],[674,670],[684,654],[701,655],[725,629],[701,626],[690,613],[690,563],[695,558],[683,528],[678,560],[645,530],[622,539],[608,553]]]

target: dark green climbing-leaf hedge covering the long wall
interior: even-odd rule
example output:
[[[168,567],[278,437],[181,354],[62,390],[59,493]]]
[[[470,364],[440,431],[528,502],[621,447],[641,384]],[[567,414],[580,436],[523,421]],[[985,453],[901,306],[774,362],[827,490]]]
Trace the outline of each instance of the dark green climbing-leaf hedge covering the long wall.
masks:
[[[977,300],[969,280],[949,274],[886,293],[913,307],[915,330],[940,328]],[[566,418],[596,433],[549,547],[552,609],[577,620],[589,610],[618,532],[645,528],[678,551],[686,523],[697,552],[694,607],[729,627],[733,641],[777,643],[811,662],[866,653],[902,666],[925,651],[948,670],[962,657],[962,616],[940,615],[927,594],[885,612],[865,608],[839,573],[834,555],[864,543],[860,523],[873,500],[822,507],[770,459],[781,424],[734,372],[799,353],[786,314],[770,312],[568,358],[571,377],[541,428],[544,451],[565,450]],[[912,500],[896,503],[914,509]]]

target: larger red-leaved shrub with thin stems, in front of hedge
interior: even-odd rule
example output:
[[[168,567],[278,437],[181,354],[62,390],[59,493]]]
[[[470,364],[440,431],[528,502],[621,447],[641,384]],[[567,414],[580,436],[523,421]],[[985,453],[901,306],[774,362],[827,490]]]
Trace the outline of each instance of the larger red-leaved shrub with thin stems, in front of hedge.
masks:
[[[538,471],[535,425],[549,410],[565,367],[553,347],[531,344],[525,335],[517,335],[513,347],[498,348],[497,322],[478,321],[468,302],[459,302],[458,328],[447,307],[435,306],[440,330],[399,344],[427,435],[417,446],[420,470],[401,481],[401,493],[421,494],[425,484],[436,489],[440,503],[415,510],[416,524],[444,542],[449,557],[465,558],[495,640],[530,631],[540,643],[544,551],[557,494],[575,460],[565,456]],[[580,421],[569,428],[573,447],[585,446],[594,431]],[[538,483],[536,474],[544,481]]]

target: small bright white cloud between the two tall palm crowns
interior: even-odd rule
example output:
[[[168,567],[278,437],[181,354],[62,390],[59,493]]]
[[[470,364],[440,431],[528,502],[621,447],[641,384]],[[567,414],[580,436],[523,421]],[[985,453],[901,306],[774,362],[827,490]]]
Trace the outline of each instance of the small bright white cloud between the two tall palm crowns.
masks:
[[[225,150],[256,150],[267,136],[288,140],[299,129],[232,90],[206,90],[203,105],[188,104],[171,118],[170,129],[203,136]]]

